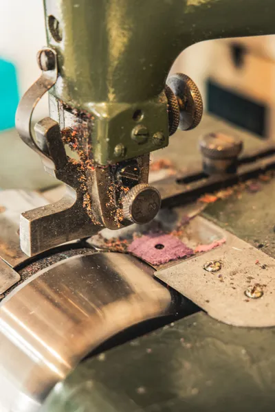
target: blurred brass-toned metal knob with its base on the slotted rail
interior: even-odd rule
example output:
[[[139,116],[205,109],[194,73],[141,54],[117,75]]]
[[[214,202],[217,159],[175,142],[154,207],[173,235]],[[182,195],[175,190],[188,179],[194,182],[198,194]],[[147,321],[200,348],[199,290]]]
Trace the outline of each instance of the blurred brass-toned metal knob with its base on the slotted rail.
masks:
[[[209,133],[199,141],[203,170],[207,174],[235,173],[243,142],[225,133]]]

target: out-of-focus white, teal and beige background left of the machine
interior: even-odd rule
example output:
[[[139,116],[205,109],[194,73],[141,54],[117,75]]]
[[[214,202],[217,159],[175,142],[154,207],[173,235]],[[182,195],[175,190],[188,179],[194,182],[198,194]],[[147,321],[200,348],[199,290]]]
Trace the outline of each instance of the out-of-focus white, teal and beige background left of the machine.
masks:
[[[0,0],[0,187],[36,189],[54,184],[41,160],[19,138],[14,115],[21,95],[39,77],[36,53],[46,45],[42,0]],[[47,115],[47,98],[34,114]]]

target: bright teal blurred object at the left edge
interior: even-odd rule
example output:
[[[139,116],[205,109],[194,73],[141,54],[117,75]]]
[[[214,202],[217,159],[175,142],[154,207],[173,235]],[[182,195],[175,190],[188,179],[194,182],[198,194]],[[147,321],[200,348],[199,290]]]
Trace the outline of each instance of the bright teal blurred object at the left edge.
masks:
[[[16,69],[11,62],[0,58],[0,131],[15,126],[18,103]]]

